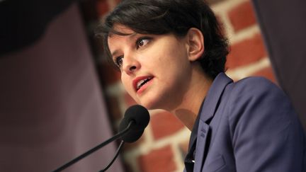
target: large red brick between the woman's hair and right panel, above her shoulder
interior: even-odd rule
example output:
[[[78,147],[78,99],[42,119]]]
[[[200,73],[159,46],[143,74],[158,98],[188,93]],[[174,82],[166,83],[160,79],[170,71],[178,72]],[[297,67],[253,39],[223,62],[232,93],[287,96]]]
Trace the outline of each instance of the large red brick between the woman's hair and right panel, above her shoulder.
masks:
[[[233,69],[251,64],[266,57],[266,55],[267,53],[261,35],[256,34],[252,38],[237,42],[230,47],[226,67]]]

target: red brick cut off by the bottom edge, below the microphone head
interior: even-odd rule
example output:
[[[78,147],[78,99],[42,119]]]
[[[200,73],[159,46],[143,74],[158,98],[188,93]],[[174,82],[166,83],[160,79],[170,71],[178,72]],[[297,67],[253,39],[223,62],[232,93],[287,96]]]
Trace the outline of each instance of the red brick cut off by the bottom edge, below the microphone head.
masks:
[[[150,151],[138,159],[142,172],[169,172],[176,170],[174,154],[170,146]]]

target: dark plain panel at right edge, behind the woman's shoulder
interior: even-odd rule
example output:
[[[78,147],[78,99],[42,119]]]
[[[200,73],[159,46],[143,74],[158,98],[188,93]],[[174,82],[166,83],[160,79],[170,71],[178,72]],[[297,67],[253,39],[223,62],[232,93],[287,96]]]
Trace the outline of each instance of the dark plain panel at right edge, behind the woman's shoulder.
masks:
[[[271,64],[306,130],[306,1],[253,0]]]

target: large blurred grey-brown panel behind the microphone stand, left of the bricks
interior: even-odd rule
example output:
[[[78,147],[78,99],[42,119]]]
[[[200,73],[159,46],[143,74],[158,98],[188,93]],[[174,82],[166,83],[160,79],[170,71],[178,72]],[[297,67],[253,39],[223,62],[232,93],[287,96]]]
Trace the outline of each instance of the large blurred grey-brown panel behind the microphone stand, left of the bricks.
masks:
[[[16,28],[10,33],[33,42],[0,58],[0,171],[51,171],[113,135],[79,3],[54,16],[39,8],[31,22],[39,29],[18,19],[36,40]],[[18,35],[11,39],[24,40]],[[98,171],[115,149],[108,144],[66,171]],[[109,171],[123,171],[120,159]]]

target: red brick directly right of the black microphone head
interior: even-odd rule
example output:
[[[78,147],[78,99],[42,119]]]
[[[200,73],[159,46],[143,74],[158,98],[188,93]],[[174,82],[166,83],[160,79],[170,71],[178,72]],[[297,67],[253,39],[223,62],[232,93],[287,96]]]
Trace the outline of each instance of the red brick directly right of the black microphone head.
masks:
[[[184,127],[173,114],[166,111],[152,115],[151,126],[154,139],[169,136]]]

